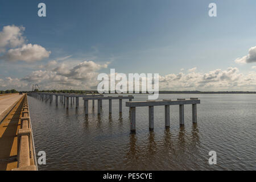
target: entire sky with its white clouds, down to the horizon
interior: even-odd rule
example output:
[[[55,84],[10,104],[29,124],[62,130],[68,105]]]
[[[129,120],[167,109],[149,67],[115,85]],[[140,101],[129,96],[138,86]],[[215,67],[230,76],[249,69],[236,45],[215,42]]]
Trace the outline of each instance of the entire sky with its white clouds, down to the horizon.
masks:
[[[160,90],[255,91],[255,10],[254,0],[0,0],[0,90],[90,90],[114,68],[159,73]]]

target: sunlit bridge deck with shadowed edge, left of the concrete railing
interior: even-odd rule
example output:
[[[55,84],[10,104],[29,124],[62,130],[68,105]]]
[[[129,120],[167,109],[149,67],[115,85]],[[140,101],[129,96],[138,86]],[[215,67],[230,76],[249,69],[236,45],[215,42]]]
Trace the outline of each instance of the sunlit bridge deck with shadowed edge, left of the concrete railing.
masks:
[[[0,99],[2,97],[0,96]],[[22,109],[20,98],[22,95],[13,94],[0,100],[1,115],[6,116],[11,110],[0,123],[0,170],[9,171],[17,167],[17,133],[20,128],[19,117]]]

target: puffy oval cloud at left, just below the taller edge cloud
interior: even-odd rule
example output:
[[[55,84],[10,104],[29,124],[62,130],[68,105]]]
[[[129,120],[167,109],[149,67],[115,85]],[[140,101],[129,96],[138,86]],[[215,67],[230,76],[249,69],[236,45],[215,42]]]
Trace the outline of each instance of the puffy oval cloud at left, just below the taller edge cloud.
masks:
[[[49,57],[51,51],[37,44],[24,44],[22,47],[16,49],[9,49],[5,55],[1,58],[6,61],[26,61],[31,63],[34,61],[40,61],[44,58]]]

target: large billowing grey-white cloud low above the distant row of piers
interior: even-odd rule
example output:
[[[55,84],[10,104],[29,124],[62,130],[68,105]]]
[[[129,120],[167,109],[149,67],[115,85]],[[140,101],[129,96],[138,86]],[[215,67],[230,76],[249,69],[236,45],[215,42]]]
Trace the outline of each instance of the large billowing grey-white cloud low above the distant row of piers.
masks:
[[[98,83],[97,71],[107,68],[108,64],[83,61],[73,67],[65,63],[61,63],[56,67],[57,64],[55,61],[49,61],[47,65],[55,66],[55,68],[34,71],[30,75],[20,79],[20,81],[36,82],[40,84],[40,88],[42,89],[91,89]]]

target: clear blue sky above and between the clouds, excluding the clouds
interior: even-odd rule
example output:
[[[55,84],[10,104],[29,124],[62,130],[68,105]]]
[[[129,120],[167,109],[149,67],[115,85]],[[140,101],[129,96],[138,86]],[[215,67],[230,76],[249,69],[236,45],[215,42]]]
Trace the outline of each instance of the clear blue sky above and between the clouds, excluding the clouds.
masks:
[[[37,14],[40,2],[46,3],[46,17]],[[217,17],[208,15],[210,2],[217,5]],[[187,74],[196,67],[202,75],[232,67],[246,76],[255,72],[255,61],[234,60],[256,46],[255,9],[253,0],[1,0],[0,31],[4,26],[22,26],[27,44],[38,44],[51,54],[32,63],[1,59],[0,78],[20,79],[38,71],[38,65],[66,56],[69,67],[89,60],[100,65],[110,62],[97,72],[115,68],[122,73],[165,76]]]

